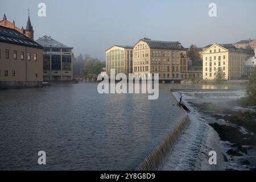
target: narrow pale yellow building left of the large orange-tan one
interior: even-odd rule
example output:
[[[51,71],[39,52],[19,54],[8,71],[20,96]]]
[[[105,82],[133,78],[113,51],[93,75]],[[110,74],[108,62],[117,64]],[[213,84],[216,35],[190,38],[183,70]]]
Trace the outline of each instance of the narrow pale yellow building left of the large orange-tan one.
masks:
[[[110,69],[128,75],[133,73],[133,46],[112,46],[106,50],[106,73],[110,76]]]

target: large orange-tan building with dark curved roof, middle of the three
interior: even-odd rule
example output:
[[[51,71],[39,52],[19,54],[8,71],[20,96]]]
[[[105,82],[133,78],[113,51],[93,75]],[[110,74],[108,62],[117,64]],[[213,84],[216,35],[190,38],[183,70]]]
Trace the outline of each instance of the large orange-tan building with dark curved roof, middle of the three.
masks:
[[[188,66],[187,57],[181,63],[185,52],[179,42],[141,39],[133,48],[133,73],[159,73],[159,80],[181,80],[181,71],[187,71]]]

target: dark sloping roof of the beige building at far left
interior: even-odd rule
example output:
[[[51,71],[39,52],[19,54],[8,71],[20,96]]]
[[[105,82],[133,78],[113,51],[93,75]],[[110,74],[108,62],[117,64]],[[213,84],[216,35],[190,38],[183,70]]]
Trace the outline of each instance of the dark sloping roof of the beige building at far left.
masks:
[[[0,42],[41,49],[43,48],[40,44],[36,43],[34,40],[29,39],[26,35],[23,35],[19,31],[3,26],[0,26]]]

